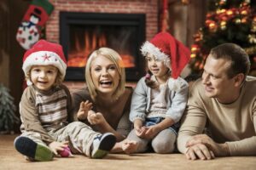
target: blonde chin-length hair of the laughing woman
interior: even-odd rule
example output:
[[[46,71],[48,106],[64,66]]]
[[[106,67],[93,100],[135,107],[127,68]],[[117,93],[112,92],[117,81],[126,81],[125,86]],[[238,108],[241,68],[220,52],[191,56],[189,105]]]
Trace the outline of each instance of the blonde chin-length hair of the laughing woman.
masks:
[[[92,54],[90,54],[89,59],[85,65],[85,81],[89,89],[91,99],[95,100],[97,93],[95,84],[92,82],[91,77],[91,63],[96,57],[104,56],[107,59],[111,60],[116,66],[117,71],[119,72],[119,85],[116,91],[113,93],[113,99],[118,99],[121,94],[125,91],[125,67],[123,60],[120,55],[111,48],[99,48],[96,49]]]

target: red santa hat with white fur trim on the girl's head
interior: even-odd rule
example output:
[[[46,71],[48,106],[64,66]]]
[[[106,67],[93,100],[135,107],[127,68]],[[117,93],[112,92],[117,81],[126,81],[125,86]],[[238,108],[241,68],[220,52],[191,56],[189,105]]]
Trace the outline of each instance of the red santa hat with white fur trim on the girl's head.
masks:
[[[185,65],[189,63],[190,50],[167,32],[160,32],[141,48],[142,54],[154,54],[156,59],[165,62],[172,71],[172,78],[177,79]]]

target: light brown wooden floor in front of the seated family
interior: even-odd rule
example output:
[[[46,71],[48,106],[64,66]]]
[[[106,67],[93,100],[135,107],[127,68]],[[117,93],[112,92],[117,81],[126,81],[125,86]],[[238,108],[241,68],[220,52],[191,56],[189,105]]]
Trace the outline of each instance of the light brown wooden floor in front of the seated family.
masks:
[[[79,169],[108,169],[108,170],[165,170],[165,169],[256,169],[256,156],[225,157],[211,161],[188,161],[182,154],[137,154],[132,156],[109,154],[101,160],[89,159],[85,156],[70,158],[55,158],[54,161],[26,161],[14,148],[14,135],[0,135],[0,169],[1,170],[79,170]]]

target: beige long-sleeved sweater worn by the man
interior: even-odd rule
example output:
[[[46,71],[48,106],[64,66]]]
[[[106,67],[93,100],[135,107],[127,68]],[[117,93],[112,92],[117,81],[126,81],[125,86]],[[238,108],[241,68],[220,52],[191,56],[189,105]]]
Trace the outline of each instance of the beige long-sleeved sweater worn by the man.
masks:
[[[208,98],[201,80],[196,81],[178,133],[178,150],[184,153],[188,139],[203,133],[205,127],[215,142],[228,144],[231,156],[255,156],[256,78],[247,77],[240,97],[230,105]]]

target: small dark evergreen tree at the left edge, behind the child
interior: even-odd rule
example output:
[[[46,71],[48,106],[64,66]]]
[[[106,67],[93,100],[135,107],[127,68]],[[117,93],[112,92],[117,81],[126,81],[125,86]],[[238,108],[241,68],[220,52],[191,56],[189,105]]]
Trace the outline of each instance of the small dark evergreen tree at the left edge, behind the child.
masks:
[[[15,124],[20,122],[13,101],[9,89],[0,84],[0,133],[14,133]]]

